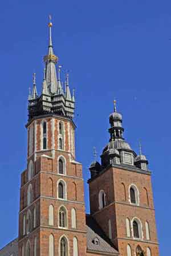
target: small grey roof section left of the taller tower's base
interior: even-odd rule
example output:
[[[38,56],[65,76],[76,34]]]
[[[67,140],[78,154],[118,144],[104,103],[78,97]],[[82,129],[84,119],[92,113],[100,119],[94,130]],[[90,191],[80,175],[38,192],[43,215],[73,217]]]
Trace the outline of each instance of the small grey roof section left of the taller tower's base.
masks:
[[[0,250],[0,256],[18,256],[18,238]]]

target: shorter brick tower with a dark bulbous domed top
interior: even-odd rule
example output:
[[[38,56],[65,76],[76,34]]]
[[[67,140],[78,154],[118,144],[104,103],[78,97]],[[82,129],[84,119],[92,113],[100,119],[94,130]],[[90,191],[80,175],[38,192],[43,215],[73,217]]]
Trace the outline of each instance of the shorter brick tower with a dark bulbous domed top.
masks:
[[[158,256],[151,172],[141,149],[137,155],[124,140],[122,122],[115,102],[101,164],[90,167],[91,214],[120,256]]]

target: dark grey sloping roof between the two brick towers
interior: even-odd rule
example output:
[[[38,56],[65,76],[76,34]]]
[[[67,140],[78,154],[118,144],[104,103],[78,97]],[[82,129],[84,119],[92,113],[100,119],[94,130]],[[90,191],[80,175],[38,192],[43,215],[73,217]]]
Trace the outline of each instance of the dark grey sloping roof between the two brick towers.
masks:
[[[119,252],[114,248],[110,239],[104,234],[100,226],[91,215],[86,215],[87,224],[87,250],[99,251],[101,253],[119,255]],[[93,243],[93,239],[99,240],[99,245]]]

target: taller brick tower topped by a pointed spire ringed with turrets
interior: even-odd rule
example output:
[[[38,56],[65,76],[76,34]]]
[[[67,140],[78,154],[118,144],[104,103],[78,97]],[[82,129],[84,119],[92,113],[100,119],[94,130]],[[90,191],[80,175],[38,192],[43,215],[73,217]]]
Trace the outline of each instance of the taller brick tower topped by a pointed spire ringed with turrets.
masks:
[[[82,165],[75,159],[75,98],[60,81],[49,27],[42,93],[28,97],[27,169],[21,175],[19,256],[86,255]]]

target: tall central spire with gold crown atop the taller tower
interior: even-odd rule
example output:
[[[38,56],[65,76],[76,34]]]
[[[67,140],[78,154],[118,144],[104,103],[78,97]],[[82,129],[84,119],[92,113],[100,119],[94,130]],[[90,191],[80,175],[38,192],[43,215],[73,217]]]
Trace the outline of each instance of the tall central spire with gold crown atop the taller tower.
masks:
[[[48,55],[44,57],[44,62],[46,65],[46,83],[49,93],[56,93],[58,91],[58,82],[56,77],[56,67],[55,64],[58,61],[58,57],[54,54],[52,46],[52,22],[50,16],[49,27],[49,43],[48,43]]]

